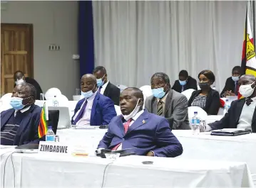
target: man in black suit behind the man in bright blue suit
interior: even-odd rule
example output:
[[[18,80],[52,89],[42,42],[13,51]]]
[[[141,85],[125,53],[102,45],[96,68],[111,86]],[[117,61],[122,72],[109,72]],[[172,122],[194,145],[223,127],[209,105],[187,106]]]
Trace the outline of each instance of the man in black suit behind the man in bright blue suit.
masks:
[[[105,67],[98,66],[93,70],[97,78],[98,92],[112,99],[115,105],[119,106],[120,89],[108,81],[108,74]]]

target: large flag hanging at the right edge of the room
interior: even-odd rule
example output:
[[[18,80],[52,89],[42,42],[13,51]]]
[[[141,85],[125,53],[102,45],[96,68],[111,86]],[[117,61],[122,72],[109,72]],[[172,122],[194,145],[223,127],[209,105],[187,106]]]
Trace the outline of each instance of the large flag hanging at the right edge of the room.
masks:
[[[255,58],[255,46],[253,43],[252,30],[250,26],[250,20],[248,15],[248,6],[245,18],[245,34],[244,42],[242,45],[242,74],[252,74],[256,77],[256,58]],[[238,99],[242,95],[238,93]]]

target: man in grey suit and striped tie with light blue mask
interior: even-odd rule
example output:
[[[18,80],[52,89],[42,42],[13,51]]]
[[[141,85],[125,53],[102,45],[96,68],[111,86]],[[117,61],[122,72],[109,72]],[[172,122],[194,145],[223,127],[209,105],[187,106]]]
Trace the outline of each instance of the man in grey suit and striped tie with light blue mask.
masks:
[[[163,72],[153,74],[151,89],[153,95],[145,100],[145,109],[158,116],[164,116],[172,129],[190,129],[188,99],[170,89],[168,75]]]

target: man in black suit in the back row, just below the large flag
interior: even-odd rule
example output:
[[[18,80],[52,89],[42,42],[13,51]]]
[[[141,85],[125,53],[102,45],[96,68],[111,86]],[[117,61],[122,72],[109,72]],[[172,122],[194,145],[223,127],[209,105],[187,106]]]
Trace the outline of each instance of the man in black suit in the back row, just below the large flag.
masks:
[[[226,96],[237,96],[238,95],[238,80],[241,75],[241,67],[235,66],[232,69],[232,77],[227,78],[225,87],[223,88],[222,92],[220,93],[221,97]]]

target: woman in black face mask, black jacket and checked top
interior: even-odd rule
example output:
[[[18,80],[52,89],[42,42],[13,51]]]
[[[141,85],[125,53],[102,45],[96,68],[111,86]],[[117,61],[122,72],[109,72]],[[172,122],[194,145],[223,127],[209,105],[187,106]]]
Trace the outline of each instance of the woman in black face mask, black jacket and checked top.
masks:
[[[215,75],[210,70],[198,74],[200,90],[190,96],[188,106],[198,106],[208,115],[217,115],[220,109],[220,94],[210,86],[215,82]]]

